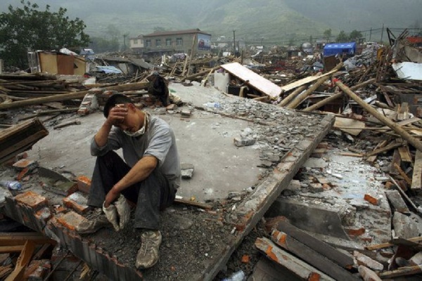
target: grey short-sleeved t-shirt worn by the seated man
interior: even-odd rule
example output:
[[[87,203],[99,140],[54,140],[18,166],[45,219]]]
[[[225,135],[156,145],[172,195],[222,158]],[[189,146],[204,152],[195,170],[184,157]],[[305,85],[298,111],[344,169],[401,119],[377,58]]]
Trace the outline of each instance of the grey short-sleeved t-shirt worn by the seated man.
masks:
[[[108,135],[108,142],[98,147],[94,138],[91,140],[91,155],[105,155],[110,150],[122,148],[124,161],[134,166],[144,155],[152,155],[158,159],[158,169],[170,181],[170,185],[179,188],[181,181],[180,159],[177,152],[174,133],[164,120],[151,117],[148,129],[143,136],[127,136],[120,128],[113,126]]]

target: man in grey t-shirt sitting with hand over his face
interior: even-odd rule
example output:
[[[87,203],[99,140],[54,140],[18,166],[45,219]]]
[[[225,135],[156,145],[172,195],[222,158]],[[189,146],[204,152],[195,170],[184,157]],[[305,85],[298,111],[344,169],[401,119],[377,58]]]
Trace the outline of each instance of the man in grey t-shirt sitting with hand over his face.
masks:
[[[158,261],[160,210],[174,202],[180,185],[180,161],[174,133],[158,117],[139,110],[127,96],[116,93],[104,106],[106,121],[91,141],[97,156],[88,204],[91,218],[77,226],[78,233],[94,233],[113,225],[121,230],[129,222],[127,200],[136,204],[134,228],[141,230],[136,268]],[[116,152],[122,148],[124,161]],[[121,196],[122,195],[122,196]]]

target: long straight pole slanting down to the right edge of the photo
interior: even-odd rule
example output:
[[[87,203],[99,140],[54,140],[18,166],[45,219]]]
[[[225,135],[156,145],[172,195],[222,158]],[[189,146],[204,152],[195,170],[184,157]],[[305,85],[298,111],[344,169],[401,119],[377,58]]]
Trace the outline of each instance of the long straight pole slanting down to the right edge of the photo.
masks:
[[[407,131],[402,129],[401,126],[397,125],[395,122],[392,122],[392,120],[388,119],[387,117],[384,117],[380,112],[376,111],[371,105],[367,104],[362,100],[362,98],[359,98],[356,93],[353,93],[349,87],[345,86],[340,81],[336,81],[335,85],[338,86],[343,92],[347,93],[352,100],[354,100],[357,104],[362,106],[367,112],[369,112],[373,117],[376,117],[376,119],[380,120],[385,124],[386,126],[390,127],[393,131],[398,133],[404,140],[408,141],[411,145],[413,145],[417,150],[422,152],[422,143],[418,141],[416,138],[411,136]]]

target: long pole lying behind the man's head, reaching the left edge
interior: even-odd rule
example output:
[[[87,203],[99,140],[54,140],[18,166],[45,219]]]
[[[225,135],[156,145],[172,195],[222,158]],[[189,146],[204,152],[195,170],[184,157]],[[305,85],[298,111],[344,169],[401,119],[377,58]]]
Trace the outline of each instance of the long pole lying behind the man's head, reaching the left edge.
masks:
[[[136,82],[130,84],[122,84],[116,86],[103,87],[103,91],[133,91],[148,88],[149,82]],[[31,98],[27,100],[14,101],[13,103],[1,103],[0,110],[7,110],[11,108],[23,107],[28,105],[41,105],[43,103],[51,103],[53,101],[72,100],[74,98],[84,98],[84,96],[91,90],[79,91],[75,93],[63,93],[60,95],[46,96],[42,98]]]

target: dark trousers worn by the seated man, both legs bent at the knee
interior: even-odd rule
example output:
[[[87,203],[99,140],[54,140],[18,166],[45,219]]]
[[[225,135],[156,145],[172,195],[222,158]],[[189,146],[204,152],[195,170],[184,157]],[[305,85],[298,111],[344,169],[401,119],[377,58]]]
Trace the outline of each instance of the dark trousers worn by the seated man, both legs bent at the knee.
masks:
[[[114,151],[99,156],[94,166],[94,174],[89,190],[88,205],[102,207],[106,195],[113,185],[120,181],[131,169]],[[134,228],[158,230],[160,210],[174,202],[177,190],[158,169],[148,178],[122,191],[122,195],[136,204]]]

